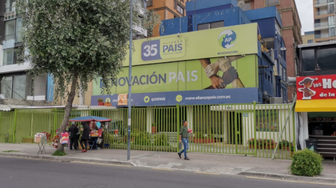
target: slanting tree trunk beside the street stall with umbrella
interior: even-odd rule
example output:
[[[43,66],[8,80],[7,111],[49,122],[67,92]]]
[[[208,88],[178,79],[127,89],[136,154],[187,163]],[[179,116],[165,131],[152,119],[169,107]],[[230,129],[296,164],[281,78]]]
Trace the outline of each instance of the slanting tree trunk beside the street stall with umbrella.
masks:
[[[66,105],[65,105],[65,108],[64,108],[65,113],[64,113],[64,117],[63,117],[63,122],[62,122],[61,127],[59,128],[59,139],[60,139],[61,133],[65,132],[66,125],[69,123],[69,117],[70,117],[71,110],[72,110],[73,99],[75,99],[75,96],[76,96],[77,80],[78,80],[78,73],[75,73],[75,75],[73,76],[72,83],[71,83],[71,89],[70,89],[70,93],[69,93],[69,96],[68,96],[68,100],[66,101]],[[60,141],[59,141],[59,144],[57,146],[57,150],[59,152],[64,152],[64,146],[62,144],[60,144]]]

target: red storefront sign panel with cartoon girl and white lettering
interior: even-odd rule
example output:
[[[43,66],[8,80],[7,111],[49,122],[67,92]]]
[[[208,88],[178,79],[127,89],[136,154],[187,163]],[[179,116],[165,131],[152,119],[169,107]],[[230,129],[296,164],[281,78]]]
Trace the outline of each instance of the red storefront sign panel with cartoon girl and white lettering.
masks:
[[[297,100],[336,99],[336,75],[296,78]]]

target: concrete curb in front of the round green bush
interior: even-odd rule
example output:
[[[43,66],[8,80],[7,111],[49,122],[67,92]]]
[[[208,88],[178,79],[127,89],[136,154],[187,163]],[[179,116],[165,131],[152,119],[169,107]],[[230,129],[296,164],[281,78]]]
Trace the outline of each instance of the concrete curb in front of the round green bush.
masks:
[[[238,173],[238,175],[253,176],[258,178],[276,178],[281,180],[294,180],[297,182],[319,182],[319,183],[331,183],[336,184],[336,179],[331,178],[320,178],[320,177],[303,177],[297,175],[281,175],[275,173],[258,173],[258,172],[248,172],[244,171]]]

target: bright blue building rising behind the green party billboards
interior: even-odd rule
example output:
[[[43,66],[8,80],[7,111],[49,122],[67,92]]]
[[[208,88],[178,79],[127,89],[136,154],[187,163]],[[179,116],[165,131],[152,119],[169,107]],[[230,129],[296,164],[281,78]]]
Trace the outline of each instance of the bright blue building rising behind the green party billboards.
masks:
[[[235,0],[199,0],[188,1],[186,10],[186,17],[162,21],[162,36],[258,23],[264,49],[258,67],[260,99],[262,103],[271,103],[270,98],[281,97],[287,103],[286,48],[280,32],[281,17],[274,6],[243,11]]]

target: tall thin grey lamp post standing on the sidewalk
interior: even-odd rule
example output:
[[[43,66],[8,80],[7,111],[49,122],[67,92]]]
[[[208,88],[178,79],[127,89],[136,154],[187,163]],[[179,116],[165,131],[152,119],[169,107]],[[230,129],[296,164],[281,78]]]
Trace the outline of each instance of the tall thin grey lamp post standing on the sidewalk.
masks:
[[[139,0],[138,0],[139,1]],[[142,0],[146,10],[147,1]],[[130,65],[128,69],[128,121],[127,121],[127,161],[130,160],[131,155],[131,94],[132,94],[132,41],[133,41],[133,0],[131,0],[131,16],[130,16]]]

